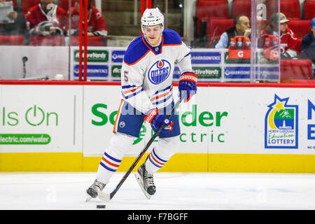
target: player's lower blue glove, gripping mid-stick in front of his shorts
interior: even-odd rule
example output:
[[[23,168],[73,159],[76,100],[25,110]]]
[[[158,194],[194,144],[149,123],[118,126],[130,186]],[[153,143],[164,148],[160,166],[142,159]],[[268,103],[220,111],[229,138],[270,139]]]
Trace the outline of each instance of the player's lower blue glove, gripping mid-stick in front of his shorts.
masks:
[[[155,132],[158,131],[161,125],[165,125],[165,127],[162,128],[161,132],[172,131],[173,130],[172,126],[174,123],[171,122],[171,120],[167,119],[166,116],[158,113],[159,113],[158,109],[148,111],[148,113],[146,113],[146,116],[144,117],[144,120],[151,124],[151,127]]]

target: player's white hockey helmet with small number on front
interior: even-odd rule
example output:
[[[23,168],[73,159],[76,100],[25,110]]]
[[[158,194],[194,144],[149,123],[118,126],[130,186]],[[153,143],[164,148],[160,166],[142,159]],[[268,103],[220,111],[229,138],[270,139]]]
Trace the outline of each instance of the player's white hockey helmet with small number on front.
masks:
[[[141,17],[141,30],[144,33],[145,26],[162,25],[164,29],[164,15],[159,8],[146,8],[144,15]]]

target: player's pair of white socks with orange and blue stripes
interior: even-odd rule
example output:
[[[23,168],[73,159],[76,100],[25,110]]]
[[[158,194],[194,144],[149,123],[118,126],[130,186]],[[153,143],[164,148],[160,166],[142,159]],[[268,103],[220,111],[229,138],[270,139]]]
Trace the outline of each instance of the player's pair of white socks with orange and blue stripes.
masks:
[[[116,132],[109,141],[97,170],[97,180],[109,183],[111,176],[118,169],[125,154],[130,150],[134,140],[137,139],[127,134]],[[158,145],[153,148],[146,160],[146,170],[149,174],[158,172],[160,168],[176,153],[179,137],[160,138]]]

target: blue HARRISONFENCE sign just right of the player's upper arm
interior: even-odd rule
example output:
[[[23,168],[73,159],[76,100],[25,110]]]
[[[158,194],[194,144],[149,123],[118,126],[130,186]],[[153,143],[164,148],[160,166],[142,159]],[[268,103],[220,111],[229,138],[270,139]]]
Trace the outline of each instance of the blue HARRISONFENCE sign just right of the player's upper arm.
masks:
[[[191,52],[192,64],[221,64],[221,52]]]

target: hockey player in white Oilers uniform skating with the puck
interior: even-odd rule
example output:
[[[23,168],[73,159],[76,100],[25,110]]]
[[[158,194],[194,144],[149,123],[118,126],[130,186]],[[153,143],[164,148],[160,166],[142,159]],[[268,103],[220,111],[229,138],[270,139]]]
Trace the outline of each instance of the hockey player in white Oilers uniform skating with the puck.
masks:
[[[144,11],[141,30],[144,35],[135,38],[127,50],[121,69],[120,106],[114,124],[113,137],[106,148],[96,180],[87,189],[89,197],[97,197],[133,142],[139,137],[141,125],[151,124],[154,131],[165,125],[159,134],[158,146],[154,147],[136,173],[137,181],[146,197],[155,194],[153,174],[174,155],[179,141],[179,118],[176,113],[167,119],[173,101],[173,72],[177,63],[182,73],[179,94],[184,90],[188,102],[197,90],[197,75],[193,73],[190,48],[181,41],[175,31],[164,29],[164,16],[158,8]],[[181,98],[182,99],[182,98]],[[88,198],[87,200],[89,200]]]

